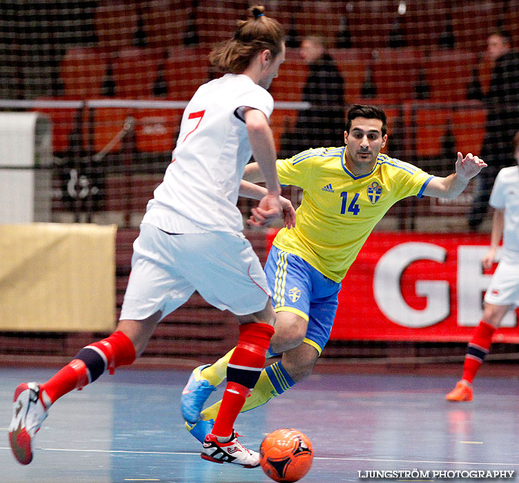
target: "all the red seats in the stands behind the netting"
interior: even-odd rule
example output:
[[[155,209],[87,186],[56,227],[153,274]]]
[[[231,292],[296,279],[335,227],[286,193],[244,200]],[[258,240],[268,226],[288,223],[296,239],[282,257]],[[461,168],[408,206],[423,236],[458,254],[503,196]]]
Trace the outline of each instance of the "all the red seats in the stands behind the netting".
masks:
[[[237,1],[199,0],[101,0],[95,10],[95,46],[70,48],[61,61],[65,99],[99,99],[107,93],[103,86],[113,84],[117,99],[171,99],[188,101],[197,87],[214,77],[208,52],[219,40],[230,37],[236,22],[244,18]],[[492,64],[480,55],[487,35],[498,20],[512,35],[519,34],[518,9],[507,8],[501,0],[415,0],[406,2],[404,14],[398,2],[388,0],[313,1],[283,0],[266,5],[267,14],[279,19],[301,38],[322,34],[335,45],[341,26],[349,29],[351,48],[331,48],[332,57],[344,77],[346,104],[362,101],[379,103],[400,115],[403,104],[416,102],[416,86],[425,81],[429,97],[424,102],[451,103],[467,100],[467,84],[477,68],[483,90],[489,86]],[[467,21],[470,19],[470,21]],[[449,30],[454,48],[440,48],[442,35]],[[400,28],[407,46],[389,48],[393,28]],[[185,46],[186,31],[195,32],[198,43]],[[140,32],[140,33],[139,33]],[[143,43],[135,45],[143,36]],[[372,99],[362,98],[366,68],[376,86]],[[288,48],[286,62],[273,81],[275,101],[300,101],[308,74],[297,49]],[[159,79],[160,77],[160,79]],[[157,92],[157,80],[163,82]],[[108,81],[108,82],[107,82]],[[166,91],[164,92],[164,86]],[[475,105],[476,106],[476,105]],[[473,125],[467,128],[461,110],[419,111],[418,124],[404,119],[404,130],[416,128],[416,152],[420,156],[438,153],[439,139],[447,120],[451,120],[460,148],[476,146],[482,139],[484,112],[478,108],[468,115]],[[449,114],[450,112],[450,114]],[[472,110],[471,110],[472,112]],[[55,150],[64,151],[75,121],[72,110],[46,109],[54,121]],[[128,110],[101,108],[92,112],[93,130],[84,117],[83,146],[98,152],[113,139],[128,115],[137,119],[136,146],[142,151],[173,148],[182,110]],[[271,119],[275,139],[297,112],[276,109]],[[464,126],[462,130],[461,126]],[[405,134],[405,132],[404,132]],[[476,139],[476,141],[474,141]],[[411,145],[409,145],[411,146]],[[117,144],[115,149],[120,149]],[[463,149],[462,149],[463,150]],[[476,148],[472,148],[476,150]]]

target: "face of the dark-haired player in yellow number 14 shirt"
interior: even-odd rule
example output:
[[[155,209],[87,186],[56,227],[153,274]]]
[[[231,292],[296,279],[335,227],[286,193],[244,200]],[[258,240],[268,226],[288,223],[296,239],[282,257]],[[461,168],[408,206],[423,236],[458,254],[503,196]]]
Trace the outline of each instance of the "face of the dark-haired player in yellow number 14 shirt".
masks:
[[[387,135],[382,136],[382,121],[355,117],[350,132],[344,131],[346,161],[355,175],[370,172],[377,162],[378,153],[386,145]]]

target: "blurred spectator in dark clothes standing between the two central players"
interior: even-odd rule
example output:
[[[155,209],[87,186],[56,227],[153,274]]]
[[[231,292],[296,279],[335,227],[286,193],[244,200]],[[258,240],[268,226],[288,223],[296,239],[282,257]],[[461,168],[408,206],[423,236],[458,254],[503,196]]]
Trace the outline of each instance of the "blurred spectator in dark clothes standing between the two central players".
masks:
[[[300,55],[309,66],[301,100],[311,103],[311,108],[301,110],[293,130],[284,133],[282,158],[308,148],[344,144],[344,80],[326,50],[324,39],[306,37]]]

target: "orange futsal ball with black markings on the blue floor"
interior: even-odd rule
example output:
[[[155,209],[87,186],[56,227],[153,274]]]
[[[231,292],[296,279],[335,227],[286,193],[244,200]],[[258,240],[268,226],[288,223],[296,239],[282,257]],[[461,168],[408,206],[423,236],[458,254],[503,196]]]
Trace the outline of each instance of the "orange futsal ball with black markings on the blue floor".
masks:
[[[297,429],[276,429],[259,446],[259,458],[263,471],[274,481],[297,482],[312,466],[312,444]]]

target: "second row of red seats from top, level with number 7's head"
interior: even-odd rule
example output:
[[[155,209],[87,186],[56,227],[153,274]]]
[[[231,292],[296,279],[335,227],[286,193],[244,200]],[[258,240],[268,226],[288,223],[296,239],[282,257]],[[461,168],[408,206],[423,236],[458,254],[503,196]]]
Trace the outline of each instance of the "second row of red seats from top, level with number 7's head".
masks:
[[[200,46],[127,47],[117,52],[98,47],[72,48],[61,61],[65,97],[99,99],[109,80],[117,98],[153,99],[160,74],[167,86],[167,93],[161,98],[187,101],[210,78],[209,52],[209,48]],[[486,56],[478,61],[477,53],[471,50],[405,47],[331,49],[330,52],[342,72],[348,102],[360,98],[368,67],[376,86],[374,100],[384,103],[414,99],[420,76],[429,86],[431,101],[467,99],[473,68],[479,72],[482,88],[489,85],[491,62]],[[298,50],[287,49],[286,61],[271,86],[274,99],[300,101],[307,75],[308,68]]]

